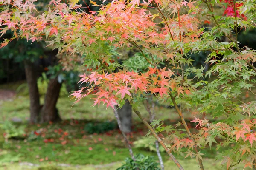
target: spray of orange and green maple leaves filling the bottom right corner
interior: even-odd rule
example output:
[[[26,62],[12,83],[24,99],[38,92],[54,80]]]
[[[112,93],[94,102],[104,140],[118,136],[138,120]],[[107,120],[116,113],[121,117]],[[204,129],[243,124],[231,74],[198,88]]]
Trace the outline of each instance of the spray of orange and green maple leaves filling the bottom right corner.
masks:
[[[209,123],[206,119],[201,120],[195,118],[192,122],[197,122],[197,127],[200,127],[199,133],[195,135],[197,144],[205,146],[209,144],[212,146],[212,142],[217,144],[217,150],[220,147],[229,147],[222,151],[220,157],[224,157],[222,163],[227,164],[227,169],[229,169],[231,162],[243,162],[244,167],[253,167],[253,162],[255,160],[253,152],[255,152],[255,142],[256,132],[255,124],[256,119],[244,119],[240,123],[233,126],[227,125],[223,122],[218,122],[216,124]],[[230,156],[230,152],[236,153]],[[188,153],[192,156],[193,153]]]

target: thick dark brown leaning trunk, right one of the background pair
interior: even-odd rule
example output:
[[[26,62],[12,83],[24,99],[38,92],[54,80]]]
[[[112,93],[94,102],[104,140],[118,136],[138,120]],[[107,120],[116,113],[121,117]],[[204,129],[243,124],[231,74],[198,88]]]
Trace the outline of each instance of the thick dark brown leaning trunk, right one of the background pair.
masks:
[[[58,76],[50,79],[44,98],[44,105],[41,109],[41,123],[61,120],[58,109],[56,108],[60,90],[61,83],[58,82]]]

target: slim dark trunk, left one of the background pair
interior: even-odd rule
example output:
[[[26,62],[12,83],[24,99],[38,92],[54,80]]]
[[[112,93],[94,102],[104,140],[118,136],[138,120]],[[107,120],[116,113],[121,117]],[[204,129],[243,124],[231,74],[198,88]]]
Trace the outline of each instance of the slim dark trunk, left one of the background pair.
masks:
[[[35,66],[30,61],[24,61],[26,80],[29,86],[29,99],[30,99],[30,123],[38,123],[40,113],[40,100],[37,85],[37,75]]]

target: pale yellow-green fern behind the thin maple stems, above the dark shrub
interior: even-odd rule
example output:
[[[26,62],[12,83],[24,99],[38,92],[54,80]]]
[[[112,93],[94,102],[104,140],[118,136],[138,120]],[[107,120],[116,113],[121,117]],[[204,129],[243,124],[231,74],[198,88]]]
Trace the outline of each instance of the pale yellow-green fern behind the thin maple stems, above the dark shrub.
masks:
[[[134,147],[136,148],[147,148],[149,149],[150,151],[154,151],[156,152],[157,149],[156,149],[156,146],[155,146],[155,140],[153,136],[148,136],[147,138],[146,137],[143,137],[137,141],[135,141],[133,144],[134,144]],[[160,145],[159,146],[159,151],[160,152],[164,152],[164,148]]]

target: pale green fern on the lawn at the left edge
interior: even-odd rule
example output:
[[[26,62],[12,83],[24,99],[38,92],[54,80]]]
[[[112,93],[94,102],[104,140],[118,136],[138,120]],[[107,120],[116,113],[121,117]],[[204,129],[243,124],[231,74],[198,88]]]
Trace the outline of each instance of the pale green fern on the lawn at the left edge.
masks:
[[[0,124],[0,129],[4,130],[5,141],[8,142],[8,139],[11,138],[24,138],[25,134],[25,125],[16,127],[11,121],[4,121]]]

